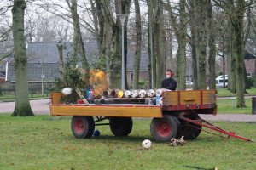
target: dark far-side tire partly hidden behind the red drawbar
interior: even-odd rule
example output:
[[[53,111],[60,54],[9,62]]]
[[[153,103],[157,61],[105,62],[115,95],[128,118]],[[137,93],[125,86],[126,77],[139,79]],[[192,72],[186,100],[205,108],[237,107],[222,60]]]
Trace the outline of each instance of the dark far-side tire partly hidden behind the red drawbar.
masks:
[[[193,115],[189,115],[189,119],[192,120],[196,120],[200,118],[200,116],[198,116],[197,114],[193,114]],[[180,138],[182,136],[184,136],[184,139],[195,139],[199,136],[199,134],[201,133],[201,128],[200,125],[194,124],[189,122],[189,124],[191,124],[194,127],[189,127],[189,126],[183,126],[183,124],[185,123],[184,121],[180,121],[180,131],[177,133],[177,138]],[[198,128],[195,128],[198,127]]]

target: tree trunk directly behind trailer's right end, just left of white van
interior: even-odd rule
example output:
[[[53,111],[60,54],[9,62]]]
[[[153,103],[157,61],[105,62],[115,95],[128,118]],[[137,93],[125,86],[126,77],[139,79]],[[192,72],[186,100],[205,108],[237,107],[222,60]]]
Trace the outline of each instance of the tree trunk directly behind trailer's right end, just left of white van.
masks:
[[[216,88],[216,82],[215,82],[215,58],[216,58],[216,46],[215,46],[215,26],[214,26],[214,20],[212,16],[212,3],[211,0],[207,0],[207,20],[208,20],[208,44],[210,48],[210,54],[208,59],[208,65],[209,65],[209,76],[210,76],[210,89]]]

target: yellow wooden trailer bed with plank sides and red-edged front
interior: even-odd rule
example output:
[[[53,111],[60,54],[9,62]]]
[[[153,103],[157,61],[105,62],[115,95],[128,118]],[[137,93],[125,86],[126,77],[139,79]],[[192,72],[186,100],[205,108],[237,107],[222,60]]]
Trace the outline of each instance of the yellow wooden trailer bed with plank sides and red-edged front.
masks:
[[[196,111],[198,114],[217,113],[215,90],[166,91],[163,105],[111,104],[111,105],[65,105],[60,102],[61,92],[52,93],[51,115],[66,116],[124,116],[163,117],[177,111]]]

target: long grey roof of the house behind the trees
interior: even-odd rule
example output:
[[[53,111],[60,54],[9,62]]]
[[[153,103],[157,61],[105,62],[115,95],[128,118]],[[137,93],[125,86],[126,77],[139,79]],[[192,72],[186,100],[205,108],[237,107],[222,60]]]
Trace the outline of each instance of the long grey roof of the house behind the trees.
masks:
[[[43,60],[44,80],[53,81],[54,78],[59,76],[56,71],[59,69],[59,52],[57,48],[57,42],[28,42],[26,47],[26,55],[28,62],[28,80],[29,81],[41,81],[42,68],[41,62]],[[72,54],[72,43],[63,43],[63,58],[64,60]],[[98,58],[97,44],[96,42],[84,42],[84,48],[86,52],[86,59],[89,63],[92,63]],[[130,43],[127,53],[127,71],[133,70],[134,61],[134,45]],[[9,59],[9,73],[8,80],[15,81],[15,68],[13,66],[14,59]],[[140,70],[148,70],[148,52],[142,51]]]

